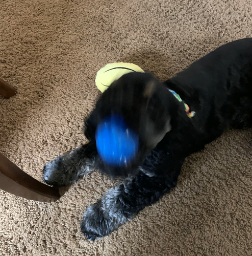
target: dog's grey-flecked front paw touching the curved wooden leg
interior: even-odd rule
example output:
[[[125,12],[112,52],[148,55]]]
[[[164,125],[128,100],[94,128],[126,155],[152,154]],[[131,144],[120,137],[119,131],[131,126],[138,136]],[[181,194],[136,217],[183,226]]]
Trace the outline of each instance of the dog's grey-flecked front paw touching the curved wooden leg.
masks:
[[[69,170],[64,166],[64,157],[59,156],[45,164],[43,168],[43,180],[46,184],[62,187],[71,182]]]

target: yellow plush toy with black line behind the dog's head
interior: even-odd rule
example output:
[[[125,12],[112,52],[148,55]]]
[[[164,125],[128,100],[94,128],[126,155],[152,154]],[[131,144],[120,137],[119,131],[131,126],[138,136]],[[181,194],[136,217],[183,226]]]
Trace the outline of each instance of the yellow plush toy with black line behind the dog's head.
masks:
[[[110,84],[120,78],[124,74],[130,72],[143,72],[144,71],[133,63],[115,62],[109,63],[104,68],[97,72],[95,84],[97,88],[103,93]]]

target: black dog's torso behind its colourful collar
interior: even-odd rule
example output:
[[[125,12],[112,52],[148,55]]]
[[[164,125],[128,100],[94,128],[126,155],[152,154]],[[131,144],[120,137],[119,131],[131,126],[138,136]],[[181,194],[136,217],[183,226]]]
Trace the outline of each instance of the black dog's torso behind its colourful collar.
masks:
[[[252,38],[219,47],[165,83],[196,112],[191,133],[199,141],[251,127]]]

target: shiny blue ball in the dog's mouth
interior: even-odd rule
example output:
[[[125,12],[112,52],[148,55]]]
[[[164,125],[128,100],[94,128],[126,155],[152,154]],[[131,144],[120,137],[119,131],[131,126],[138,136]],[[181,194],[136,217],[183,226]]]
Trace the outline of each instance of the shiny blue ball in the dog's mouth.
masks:
[[[96,148],[100,158],[115,167],[127,166],[138,151],[138,135],[120,115],[111,115],[96,129]]]

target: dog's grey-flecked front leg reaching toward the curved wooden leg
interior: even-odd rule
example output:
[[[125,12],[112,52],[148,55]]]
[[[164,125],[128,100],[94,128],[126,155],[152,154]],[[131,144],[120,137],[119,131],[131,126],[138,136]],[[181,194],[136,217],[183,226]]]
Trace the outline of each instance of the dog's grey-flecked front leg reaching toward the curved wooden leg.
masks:
[[[96,169],[96,156],[96,150],[90,143],[77,147],[45,164],[43,180],[57,187],[74,183]]]

